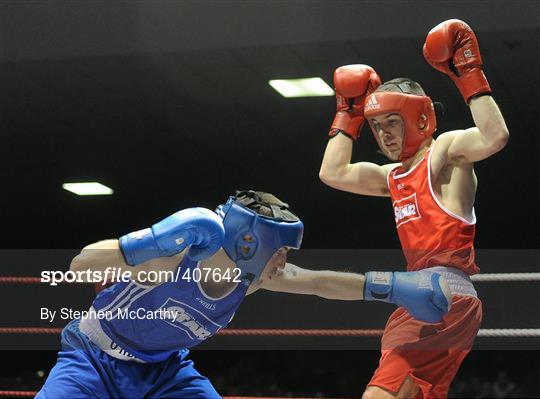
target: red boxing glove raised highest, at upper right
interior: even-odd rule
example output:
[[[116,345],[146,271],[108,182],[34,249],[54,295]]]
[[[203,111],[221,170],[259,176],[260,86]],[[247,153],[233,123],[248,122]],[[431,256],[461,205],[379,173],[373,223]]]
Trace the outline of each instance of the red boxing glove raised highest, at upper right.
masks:
[[[431,29],[424,43],[424,58],[433,68],[447,74],[465,102],[480,94],[491,94],[482,72],[478,40],[469,25],[449,19]]]

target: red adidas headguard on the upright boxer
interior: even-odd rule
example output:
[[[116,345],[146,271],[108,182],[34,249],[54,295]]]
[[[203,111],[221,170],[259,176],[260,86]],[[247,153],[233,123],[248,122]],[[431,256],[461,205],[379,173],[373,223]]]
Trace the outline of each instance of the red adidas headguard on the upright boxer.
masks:
[[[422,141],[431,137],[437,128],[435,109],[428,96],[391,91],[372,93],[366,98],[364,116],[368,120],[375,140],[381,149],[383,146],[370,118],[388,113],[399,114],[405,125],[401,153],[399,154],[401,161],[416,154]]]

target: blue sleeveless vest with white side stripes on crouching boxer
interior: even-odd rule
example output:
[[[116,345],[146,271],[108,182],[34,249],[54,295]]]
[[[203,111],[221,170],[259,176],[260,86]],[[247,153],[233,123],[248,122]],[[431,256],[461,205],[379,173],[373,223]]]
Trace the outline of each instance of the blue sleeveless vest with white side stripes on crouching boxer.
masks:
[[[197,262],[185,257],[178,266],[179,276],[187,273],[193,277],[197,266]],[[160,362],[225,327],[248,287],[249,282],[243,281],[225,297],[210,298],[193,279],[179,278],[154,286],[120,282],[94,300],[92,310],[101,316],[82,319],[79,328],[111,356]]]

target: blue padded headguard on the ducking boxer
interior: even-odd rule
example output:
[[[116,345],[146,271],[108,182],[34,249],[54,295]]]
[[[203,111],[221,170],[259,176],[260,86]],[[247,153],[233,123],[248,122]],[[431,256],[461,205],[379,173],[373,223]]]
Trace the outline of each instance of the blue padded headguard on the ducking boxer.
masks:
[[[299,249],[304,224],[285,203],[264,201],[260,192],[237,191],[216,212],[223,218],[223,249],[242,271],[241,278],[257,282],[266,264],[281,247]],[[272,217],[253,209],[267,208]],[[253,208],[253,209],[252,209]]]

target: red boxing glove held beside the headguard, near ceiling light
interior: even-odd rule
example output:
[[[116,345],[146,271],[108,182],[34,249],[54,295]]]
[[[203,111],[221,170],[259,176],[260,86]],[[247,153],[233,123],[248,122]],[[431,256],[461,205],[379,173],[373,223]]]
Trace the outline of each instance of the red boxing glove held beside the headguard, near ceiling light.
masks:
[[[334,137],[341,132],[356,140],[364,124],[366,97],[380,85],[381,78],[369,65],[345,65],[336,69],[334,86],[337,113],[328,135]]]

